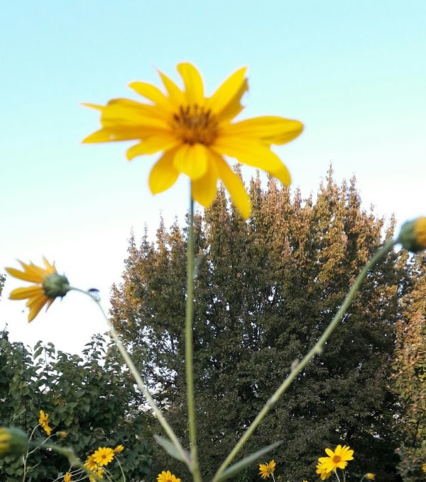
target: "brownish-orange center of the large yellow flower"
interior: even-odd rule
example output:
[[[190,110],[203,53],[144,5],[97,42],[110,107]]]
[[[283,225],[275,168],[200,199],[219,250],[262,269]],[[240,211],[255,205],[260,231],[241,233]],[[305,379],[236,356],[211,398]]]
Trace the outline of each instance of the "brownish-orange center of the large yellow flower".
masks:
[[[210,145],[217,137],[217,120],[212,111],[196,103],[192,106],[180,106],[173,114],[173,130],[186,144]]]

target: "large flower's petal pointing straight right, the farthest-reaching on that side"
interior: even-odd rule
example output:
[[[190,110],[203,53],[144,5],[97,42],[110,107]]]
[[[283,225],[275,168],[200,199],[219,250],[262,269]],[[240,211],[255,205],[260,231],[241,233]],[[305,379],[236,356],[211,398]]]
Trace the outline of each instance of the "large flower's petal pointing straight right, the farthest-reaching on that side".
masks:
[[[224,135],[261,139],[267,144],[285,144],[285,142],[297,138],[302,130],[303,124],[298,120],[278,116],[262,116],[226,125]]]

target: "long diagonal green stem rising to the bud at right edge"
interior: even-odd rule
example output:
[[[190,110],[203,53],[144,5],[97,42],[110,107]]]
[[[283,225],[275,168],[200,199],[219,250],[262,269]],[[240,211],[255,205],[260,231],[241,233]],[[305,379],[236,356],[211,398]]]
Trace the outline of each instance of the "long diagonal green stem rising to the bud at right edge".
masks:
[[[349,293],[346,295],[346,298],[344,298],[344,302],[342,303],[342,306],[340,306],[336,315],[334,315],[332,322],[328,325],[324,333],[322,333],[320,339],[317,341],[315,346],[310,350],[310,352],[308,352],[301,361],[295,360],[293,362],[292,370],[290,371],[290,374],[288,375],[288,377],[283,381],[283,383],[281,383],[281,385],[278,387],[275,393],[273,393],[273,396],[269,398],[269,400],[263,406],[262,410],[258,413],[256,418],[251,423],[250,427],[246,430],[246,432],[244,432],[244,435],[242,435],[241,439],[239,439],[239,441],[236,443],[234,449],[232,449],[231,453],[226,457],[223,464],[219,467],[218,471],[214,474],[214,477],[212,478],[212,482],[217,482],[220,480],[220,476],[222,475],[226,467],[228,467],[229,464],[231,464],[235,456],[244,447],[244,444],[247,442],[251,434],[256,430],[256,428],[261,423],[263,418],[266,417],[269,410],[273,408],[273,405],[275,405],[275,403],[279,400],[280,396],[282,396],[283,393],[287,390],[287,388],[290,386],[290,384],[296,378],[296,376],[300,374],[300,371],[302,371],[302,369],[304,369],[305,366],[307,366],[307,364],[315,357],[315,355],[322,353],[324,344],[327,342],[330,335],[332,335],[332,332],[339,324],[339,321],[342,319],[344,313],[346,313],[346,310],[349,308],[351,301],[354,299],[354,296],[356,295],[356,291],[358,291],[359,286],[361,286],[361,283],[366,278],[368,271],[372,267],[374,267],[383,257],[385,257],[392,250],[393,246],[395,246],[397,242],[398,240],[388,240],[381,247],[381,249],[378,250],[378,252],[373,254],[373,257],[371,257],[370,261],[368,261],[368,263],[364,266],[364,268],[361,269],[361,272],[356,277],[356,280],[354,281],[354,284],[351,286]]]

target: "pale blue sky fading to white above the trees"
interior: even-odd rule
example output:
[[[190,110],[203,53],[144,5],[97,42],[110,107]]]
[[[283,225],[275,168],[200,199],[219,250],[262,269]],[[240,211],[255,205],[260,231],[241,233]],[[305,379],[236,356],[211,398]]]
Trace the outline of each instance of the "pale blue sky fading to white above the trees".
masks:
[[[101,290],[124,269],[133,228],[155,235],[183,223],[187,181],[148,190],[153,157],[125,157],[131,142],[82,145],[99,128],[81,102],[137,99],[126,87],[178,81],[193,62],[206,91],[241,66],[250,91],[239,118],[278,115],[305,132],[278,147],[302,195],[316,193],[329,163],[340,183],[355,174],[364,206],[398,225],[425,215],[426,1],[5,2],[0,17],[0,272],[15,259],[55,261],[73,286]],[[244,170],[246,179],[255,174]],[[24,283],[25,284],[25,283]],[[106,326],[95,304],[68,293],[28,325],[22,282],[8,277],[0,329],[31,347],[80,352]]]

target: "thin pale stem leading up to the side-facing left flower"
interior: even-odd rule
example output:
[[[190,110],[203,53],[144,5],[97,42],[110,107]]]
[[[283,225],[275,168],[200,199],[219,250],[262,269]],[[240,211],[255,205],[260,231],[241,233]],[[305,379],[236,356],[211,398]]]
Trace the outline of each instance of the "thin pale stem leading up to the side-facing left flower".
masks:
[[[182,460],[184,460],[188,468],[191,469],[191,461],[187,455],[187,452],[185,452],[185,449],[182,447],[182,444],[180,444],[178,437],[176,437],[175,432],[173,432],[172,427],[170,427],[167,420],[165,420],[165,417],[163,417],[163,414],[160,412],[160,409],[158,408],[158,405],[155,403],[154,399],[152,398],[151,393],[149,393],[149,391],[147,390],[145,384],[143,383],[141,375],[138,372],[138,369],[136,369],[135,364],[133,364],[133,360],[131,359],[126,348],[124,347],[123,342],[121,342],[120,337],[114,328],[114,325],[111,323],[111,320],[109,320],[106,313],[104,312],[104,309],[102,308],[101,303],[97,298],[94,298],[94,296],[92,296],[87,291],[83,291],[80,288],[75,288],[73,286],[71,287],[71,289],[74,291],[79,291],[80,293],[84,293],[85,295],[89,296],[97,304],[97,306],[99,306],[99,309],[102,311],[102,315],[104,315],[105,320],[107,320],[111,337],[116,343],[116,346],[119,349],[121,357],[123,357],[124,361],[126,362],[126,365],[129,367],[129,370],[131,371],[131,374],[133,375],[133,378],[135,379],[139,390],[143,393],[146,400],[148,400],[148,403],[151,405],[151,408],[153,409],[155,416],[158,418],[160,425],[163,427],[165,433],[170,437],[171,442],[173,442],[173,445],[176,447],[176,449],[182,456]]]

